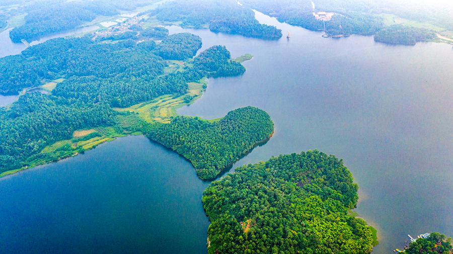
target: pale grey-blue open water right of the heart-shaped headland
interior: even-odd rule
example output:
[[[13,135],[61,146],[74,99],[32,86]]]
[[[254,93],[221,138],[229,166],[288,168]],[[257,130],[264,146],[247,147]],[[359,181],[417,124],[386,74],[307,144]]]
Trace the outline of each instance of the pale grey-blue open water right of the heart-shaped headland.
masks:
[[[178,113],[212,119],[249,105],[268,112],[274,136],[236,165],[315,148],[343,158],[360,188],[356,211],[379,230],[373,253],[401,248],[407,234],[453,236],[451,45],[325,39],[257,18],[291,38],[171,29],[201,36],[203,49],[222,44],[233,57],[254,55],[244,75],[210,78],[202,98]]]

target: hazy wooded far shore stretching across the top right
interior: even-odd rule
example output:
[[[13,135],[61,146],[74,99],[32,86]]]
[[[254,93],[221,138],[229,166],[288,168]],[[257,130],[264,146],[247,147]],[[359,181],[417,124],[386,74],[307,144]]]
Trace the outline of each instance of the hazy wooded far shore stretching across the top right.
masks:
[[[441,27],[453,29],[453,22],[448,20],[448,11],[440,6],[433,10],[431,6],[421,9],[414,5],[395,4],[394,1],[377,0],[314,0],[315,9],[311,1],[295,0],[245,0],[258,11],[274,16],[280,22],[317,31],[324,30],[329,36],[336,35],[373,35],[375,40],[387,43],[414,45],[419,41],[426,41],[435,37],[434,31],[412,28],[409,26],[386,26],[379,16],[382,13],[400,15],[420,22],[434,23]],[[392,6],[392,8],[388,8]],[[421,5],[420,5],[421,6]],[[415,8],[415,9],[414,9]],[[314,12],[333,12],[330,21],[317,20]],[[442,18],[443,17],[443,18]],[[325,24],[325,27],[324,27]]]

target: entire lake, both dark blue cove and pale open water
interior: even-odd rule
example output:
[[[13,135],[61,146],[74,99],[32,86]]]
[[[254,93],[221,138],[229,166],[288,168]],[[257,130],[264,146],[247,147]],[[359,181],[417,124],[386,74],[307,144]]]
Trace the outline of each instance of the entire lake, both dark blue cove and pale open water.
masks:
[[[254,106],[275,134],[236,162],[319,149],[344,159],[359,184],[355,211],[378,229],[373,253],[412,236],[453,236],[453,51],[451,45],[323,38],[257,13],[283,34],[264,41],[191,32],[204,50],[225,45],[244,62],[236,77],[209,78],[180,115],[213,119]],[[201,51],[200,50],[200,51]],[[4,253],[206,253],[201,205],[208,182],[181,156],[142,136],[0,179]],[[22,246],[19,248],[18,246]]]

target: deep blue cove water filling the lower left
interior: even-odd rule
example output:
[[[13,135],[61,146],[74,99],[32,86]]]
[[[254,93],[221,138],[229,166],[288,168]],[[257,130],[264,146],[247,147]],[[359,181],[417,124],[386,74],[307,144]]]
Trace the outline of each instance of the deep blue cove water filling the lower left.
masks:
[[[0,179],[0,250],[206,253],[207,185],[175,152],[118,138]]]

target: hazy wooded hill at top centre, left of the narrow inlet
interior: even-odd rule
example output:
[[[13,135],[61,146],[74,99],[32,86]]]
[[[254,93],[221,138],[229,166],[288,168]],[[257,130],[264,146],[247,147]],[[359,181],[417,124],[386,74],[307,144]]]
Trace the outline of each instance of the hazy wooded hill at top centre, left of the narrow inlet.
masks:
[[[253,11],[234,0],[176,0],[151,12],[160,21],[181,22],[182,27],[209,26],[212,32],[278,39],[281,30],[260,24]]]

